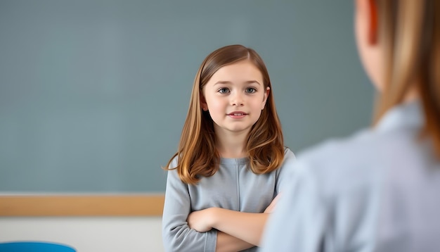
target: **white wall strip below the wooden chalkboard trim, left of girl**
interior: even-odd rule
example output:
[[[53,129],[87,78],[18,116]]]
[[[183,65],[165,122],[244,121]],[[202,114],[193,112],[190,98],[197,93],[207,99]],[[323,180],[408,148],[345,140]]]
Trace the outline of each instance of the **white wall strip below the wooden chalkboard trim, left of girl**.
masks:
[[[0,241],[54,241],[78,252],[160,252],[161,223],[160,217],[3,217]]]

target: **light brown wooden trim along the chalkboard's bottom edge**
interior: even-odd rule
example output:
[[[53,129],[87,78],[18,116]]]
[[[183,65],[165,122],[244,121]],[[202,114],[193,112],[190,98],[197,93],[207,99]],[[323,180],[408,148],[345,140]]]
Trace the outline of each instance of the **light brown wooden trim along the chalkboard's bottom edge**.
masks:
[[[160,216],[164,195],[0,196],[0,216]]]

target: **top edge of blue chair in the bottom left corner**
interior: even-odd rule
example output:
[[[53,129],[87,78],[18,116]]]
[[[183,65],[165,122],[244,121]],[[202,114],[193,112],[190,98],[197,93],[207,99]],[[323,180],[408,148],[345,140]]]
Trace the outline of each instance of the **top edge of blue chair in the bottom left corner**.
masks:
[[[8,241],[0,242],[0,252],[76,252],[65,244],[47,241]]]

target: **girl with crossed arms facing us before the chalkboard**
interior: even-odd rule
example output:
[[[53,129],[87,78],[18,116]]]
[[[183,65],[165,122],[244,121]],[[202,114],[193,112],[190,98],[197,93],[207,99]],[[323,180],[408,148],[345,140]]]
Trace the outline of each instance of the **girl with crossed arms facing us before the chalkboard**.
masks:
[[[271,89],[264,62],[245,46],[217,49],[200,65],[167,165],[165,251],[257,249],[295,160]]]

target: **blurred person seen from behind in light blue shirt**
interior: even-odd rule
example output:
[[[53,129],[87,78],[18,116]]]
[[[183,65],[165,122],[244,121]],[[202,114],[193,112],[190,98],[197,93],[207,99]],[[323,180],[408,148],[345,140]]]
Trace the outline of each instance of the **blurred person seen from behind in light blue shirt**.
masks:
[[[374,127],[298,156],[262,251],[440,251],[440,1],[355,12]]]

